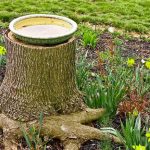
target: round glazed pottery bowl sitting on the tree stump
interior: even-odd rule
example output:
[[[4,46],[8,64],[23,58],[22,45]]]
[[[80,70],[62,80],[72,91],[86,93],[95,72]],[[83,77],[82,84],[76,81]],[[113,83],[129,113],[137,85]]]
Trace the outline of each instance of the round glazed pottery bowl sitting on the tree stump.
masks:
[[[23,42],[56,45],[69,40],[77,30],[77,24],[63,16],[34,14],[14,19],[9,29]]]

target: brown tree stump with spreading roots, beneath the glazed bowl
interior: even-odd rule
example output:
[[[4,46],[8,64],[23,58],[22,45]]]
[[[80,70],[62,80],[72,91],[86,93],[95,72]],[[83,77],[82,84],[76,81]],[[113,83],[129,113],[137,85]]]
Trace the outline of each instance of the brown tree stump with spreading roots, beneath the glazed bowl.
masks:
[[[5,149],[16,149],[12,140],[44,114],[42,134],[59,138],[65,150],[77,150],[88,139],[114,139],[83,124],[98,119],[104,109],[89,109],[75,78],[75,39],[56,46],[35,46],[5,34],[6,73],[0,87],[0,127]]]

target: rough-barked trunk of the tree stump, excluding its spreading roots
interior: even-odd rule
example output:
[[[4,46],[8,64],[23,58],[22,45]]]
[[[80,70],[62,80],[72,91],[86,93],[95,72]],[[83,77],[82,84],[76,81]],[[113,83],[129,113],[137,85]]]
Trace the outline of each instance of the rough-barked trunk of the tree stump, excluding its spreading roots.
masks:
[[[0,108],[12,119],[31,121],[45,115],[84,110],[75,82],[75,39],[57,46],[27,45],[5,35],[6,73]]]

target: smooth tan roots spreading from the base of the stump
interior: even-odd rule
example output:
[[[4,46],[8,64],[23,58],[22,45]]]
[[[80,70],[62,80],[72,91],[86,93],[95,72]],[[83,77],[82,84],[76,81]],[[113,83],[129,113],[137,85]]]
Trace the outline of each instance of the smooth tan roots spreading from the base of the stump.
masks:
[[[104,114],[104,109],[86,109],[82,112],[70,115],[49,116],[43,118],[41,135],[52,136],[60,139],[64,144],[64,150],[79,150],[80,145],[90,139],[108,140],[122,143],[122,141],[101,130],[86,126],[84,124],[98,119]],[[31,125],[38,128],[38,121],[22,122],[23,128],[28,131]],[[18,121],[14,121],[0,114],[0,128],[4,133],[5,150],[17,150],[15,139],[22,136]]]

